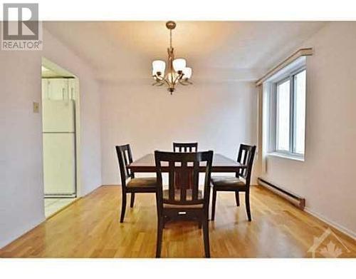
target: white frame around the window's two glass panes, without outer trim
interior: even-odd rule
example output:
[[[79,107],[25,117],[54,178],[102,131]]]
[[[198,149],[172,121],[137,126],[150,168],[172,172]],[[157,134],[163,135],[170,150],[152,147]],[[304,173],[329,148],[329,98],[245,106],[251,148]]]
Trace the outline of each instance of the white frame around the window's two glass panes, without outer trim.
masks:
[[[273,152],[274,153],[279,153],[284,156],[293,156],[293,157],[298,157],[298,158],[304,158],[305,151],[304,153],[297,153],[295,152],[295,130],[296,130],[296,110],[295,110],[295,102],[296,102],[296,93],[295,93],[295,76],[298,75],[298,73],[301,73],[302,71],[305,71],[305,79],[306,79],[306,65],[299,66],[298,68],[293,69],[292,71],[289,71],[288,73],[284,74],[283,76],[279,77],[276,81],[273,81],[272,83],[272,93],[273,93],[273,98],[271,101],[273,102],[273,136],[271,137],[271,141],[273,141]],[[278,98],[277,98],[277,88],[280,84],[285,83],[286,81],[289,81],[289,149],[288,151],[285,150],[280,150],[278,149],[278,125],[277,125],[277,115],[278,115]],[[306,80],[305,80],[305,86],[306,86]],[[306,88],[305,88],[306,90]],[[306,100],[305,100],[306,102]],[[305,141],[305,135],[304,135],[304,141]]]

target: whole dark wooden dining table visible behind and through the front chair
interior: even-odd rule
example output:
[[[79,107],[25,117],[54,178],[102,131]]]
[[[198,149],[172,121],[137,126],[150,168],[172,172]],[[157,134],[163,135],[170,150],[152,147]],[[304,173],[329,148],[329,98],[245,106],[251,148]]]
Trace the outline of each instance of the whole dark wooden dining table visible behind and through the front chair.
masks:
[[[153,153],[146,154],[145,156],[130,163],[127,166],[127,168],[130,169],[132,173],[155,173],[156,172],[155,154]],[[179,166],[177,166],[177,168],[179,168]],[[189,168],[189,164],[188,164],[188,168]],[[222,154],[214,153],[213,162],[211,165],[212,173],[236,173],[239,172],[241,169],[245,169],[245,168],[247,168],[247,166],[242,163],[239,163],[231,158],[227,158]],[[168,172],[169,171],[168,163],[162,162],[161,169],[162,172]],[[193,166],[191,171],[193,171]],[[205,171],[206,171],[206,163],[201,162],[199,166],[199,172],[204,173]],[[177,176],[174,178],[174,181],[177,188],[179,188],[179,185],[181,184],[179,173],[177,173]],[[191,183],[192,181],[189,179],[189,184]],[[189,185],[189,188],[191,187],[192,185]]]

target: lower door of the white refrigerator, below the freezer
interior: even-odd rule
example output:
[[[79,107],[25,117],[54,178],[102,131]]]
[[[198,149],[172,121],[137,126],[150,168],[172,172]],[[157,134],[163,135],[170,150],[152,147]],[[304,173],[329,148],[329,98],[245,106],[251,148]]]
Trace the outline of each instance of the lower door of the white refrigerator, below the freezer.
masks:
[[[43,133],[45,195],[75,193],[75,133]]]

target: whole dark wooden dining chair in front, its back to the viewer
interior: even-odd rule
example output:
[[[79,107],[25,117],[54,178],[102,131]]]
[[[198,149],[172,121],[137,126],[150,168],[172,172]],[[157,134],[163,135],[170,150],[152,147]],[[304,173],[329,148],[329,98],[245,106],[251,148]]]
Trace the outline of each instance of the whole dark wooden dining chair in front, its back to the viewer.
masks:
[[[197,153],[174,153],[155,151],[157,168],[157,250],[161,255],[164,223],[173,220],[196,220],[202,223],[205,257],[210,257],[209,248],[209,194],[213,151]],[[199,190],[199,166],[204,162],[204,189]],[[162,172],[168,173],[168,188],[162,184]],[[189,173],[193,173],[189,183]],[[180,174],[179,187],[174,176]],[[201,173],[203,174],[203,173]],[[189,184],[192,188],[189,188]]]

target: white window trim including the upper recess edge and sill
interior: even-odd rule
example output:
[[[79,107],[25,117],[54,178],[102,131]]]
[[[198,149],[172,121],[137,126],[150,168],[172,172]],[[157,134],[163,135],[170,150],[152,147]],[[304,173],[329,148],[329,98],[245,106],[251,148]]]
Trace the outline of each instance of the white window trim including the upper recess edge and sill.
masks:
[[[281,83],[286,80],[290,80],[290,109],[292,110],[290,112],[290,149],[294,147],[293,141],[295,141],[295,125],[293,125],[293,118],[295,118],[295,110],[294,110],[294,101],[295,101],[295,93],[294,89],[292,86],[294,86],[294,81],[293,81],[293,76],[295,74],[300,73],[301,71],[304,71],[306,69],[306,58],[305,56],[300,57],[299,59],[296,59],[293,61],[293,63],[289,64],[285,68],[281,69],[281,71],[278,71],[276,74],[271,76],[271,78],[268,78],[263,83],[264,88],[268,91],[268,96],[269,96],[269,137],[268,137],[268,151],[267,151],[267,156],[275,156],[275,157],[280,157],[280,158],[288,158],[292,160],[297,160],[297,161],[304,161],[305,158],[305,152],[304,154],[300,153],[294,153],[293,150],[289,151],[281,151],[277,150],[277,141],[276,141],[276,116],[277,116],[277,111],[276,111],[276,104],[277,104],[277,99],[276,99],[276,88],[277,88],[277,83]]]

